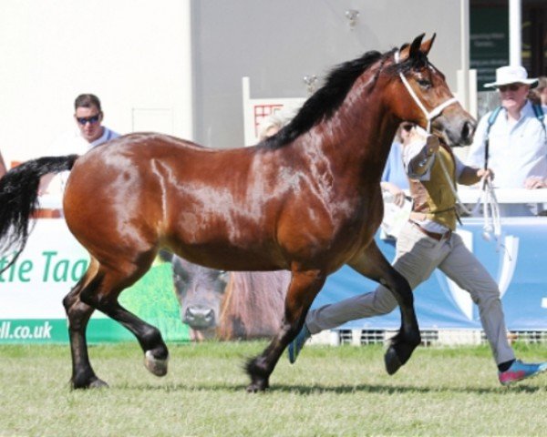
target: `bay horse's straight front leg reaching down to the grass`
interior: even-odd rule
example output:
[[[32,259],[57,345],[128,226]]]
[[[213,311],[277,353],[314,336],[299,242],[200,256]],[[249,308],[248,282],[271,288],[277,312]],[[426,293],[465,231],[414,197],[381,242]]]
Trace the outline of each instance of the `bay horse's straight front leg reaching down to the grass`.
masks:
[[[317,293],[325,284],[321,270],[295,270],[285,297],[284,320],[281,329],[261,355],[247,362],[251,378],[247,391],[264,391],[270,386],[270,375],[287,345],[304,325],[305,315]]]

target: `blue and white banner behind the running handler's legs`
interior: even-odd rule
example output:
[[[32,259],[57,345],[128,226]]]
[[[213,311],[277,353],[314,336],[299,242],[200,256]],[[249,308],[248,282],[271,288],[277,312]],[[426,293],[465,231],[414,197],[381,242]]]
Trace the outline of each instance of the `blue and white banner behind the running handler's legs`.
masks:
[[[458,229],[466,246],[490,272],[501,291],[501,302],[509,330],[547,330],[547,218],[502,218],[499,242],[483,237],[481,219],[463,219]],[[387,259],[395,248],[384,240],[377,243]],[[356,294],[375,290],[377,283],[344,267],[331,275],[313,308]],[[480,330],[477,306],[470,294],[459,289],[436,270],[414,291],[421,330]],[[369,319],[353,320],[341,327],[352,330],[397,330],[399,310]]]

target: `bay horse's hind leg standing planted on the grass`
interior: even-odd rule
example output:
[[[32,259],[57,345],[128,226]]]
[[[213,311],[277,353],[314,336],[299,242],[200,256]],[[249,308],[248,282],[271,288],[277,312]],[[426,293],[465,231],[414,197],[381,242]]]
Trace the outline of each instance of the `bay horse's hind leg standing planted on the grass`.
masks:
[[[82,290],[98,287],[100,278],[97,277],[97,266],[97,261],[92,259],[86,275],[77,282],[76,286],[70,290],[63,300],[63,305],[67,311],[68,336],[72,355],[72,377],[70,382],[75,389],[107,386],[105,381],[98,379],[95,371],[91,368],[88,357],[86,328],[88,320],[95,309],[80,300]]]

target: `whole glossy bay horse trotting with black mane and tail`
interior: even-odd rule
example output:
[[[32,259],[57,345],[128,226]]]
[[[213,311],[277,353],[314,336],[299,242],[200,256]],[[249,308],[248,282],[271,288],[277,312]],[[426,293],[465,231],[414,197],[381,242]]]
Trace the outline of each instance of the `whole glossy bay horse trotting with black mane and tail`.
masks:
[[[94,310],[139,340],[146,368],[162,376],[169,352],[160,331],[119,305],[161,248],[213,269],[288,269],[281,329],[248,361],[247,391],[264,391],[326,277],[348,264],[391,290],[401,327],[385,354],[389,374],[420,343],[408,282],[377,248],[380,178],[402,120],[430,127],[449,146],[469,144],[475,120],[428,62],[435,36],[336,67],[293,121],[255,147],[210,149],[158,134],[130,134],[82,157],[38,158],[0,180],[0,239],[24,248],[39,178],[71,169],[67,226],[88,249],[87,272],[63,300],[71,383],[106,386],[88,358]],[[13,259],[12,259],[13,260]]]

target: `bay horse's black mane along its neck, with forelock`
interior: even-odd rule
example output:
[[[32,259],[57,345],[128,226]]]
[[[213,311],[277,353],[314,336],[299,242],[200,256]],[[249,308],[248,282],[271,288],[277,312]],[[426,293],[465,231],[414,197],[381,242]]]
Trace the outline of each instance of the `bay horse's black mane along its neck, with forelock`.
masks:
[[[346,98],[357,77],[361,76],[368,67],[379,59],[387,59],[389,56],[393,56],[395,51],[396,49],[393,49],[382,55],[380,52],[372,50],[352,61],[335,66],[326,77],[325,85],[304,102],[304,106],[294,116],[293,120],[273,137],[266,138],[263,144],[266,147],[282,147],[293,142],[294,139],[307,132],[317,123],[332,117],[335,110],[340,107]],[[418,63],[423,65],[424,62],[427,62],[427,57],[421,52],[420,55],[422,56],[407,59],[403,63],[390,66],[389,73],[398,73],[399,71],[405,73],[417,66]]]

